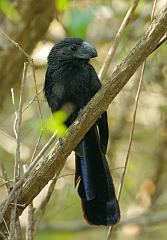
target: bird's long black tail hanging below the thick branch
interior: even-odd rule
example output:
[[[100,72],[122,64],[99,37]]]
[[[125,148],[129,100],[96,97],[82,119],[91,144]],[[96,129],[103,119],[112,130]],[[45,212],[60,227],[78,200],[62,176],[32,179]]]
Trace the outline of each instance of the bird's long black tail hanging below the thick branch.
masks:
[[[107,114],[86,134],[76,149],[75,184],[84,216],[90,224],[113,225],[120,210],[105,157],[108,142]]]

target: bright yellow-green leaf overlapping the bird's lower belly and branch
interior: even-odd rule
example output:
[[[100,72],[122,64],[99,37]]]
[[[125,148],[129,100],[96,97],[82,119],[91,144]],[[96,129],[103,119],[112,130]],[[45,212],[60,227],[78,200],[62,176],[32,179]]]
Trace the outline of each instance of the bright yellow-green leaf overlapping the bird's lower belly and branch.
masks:
[[[67,131],[67,127],[64,124],[67,118],[68,115],[65,111],[57,111],[44,121],[44,128],[50,132],[56,132],[61,137]]]

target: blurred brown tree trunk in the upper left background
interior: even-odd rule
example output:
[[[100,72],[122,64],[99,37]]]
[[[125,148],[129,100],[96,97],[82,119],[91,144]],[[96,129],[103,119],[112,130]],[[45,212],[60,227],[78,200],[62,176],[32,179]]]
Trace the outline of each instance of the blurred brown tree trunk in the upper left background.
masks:
[[[35,45],[45,35],[55,13],[53,0],[14,2],[21,17],[19,22],[12,22],[0,15],[1,29],[17,42],[28,54],[31,54]],[[18,51],[10,41],[0,33],[0,103],[18,81],[25,56]]]

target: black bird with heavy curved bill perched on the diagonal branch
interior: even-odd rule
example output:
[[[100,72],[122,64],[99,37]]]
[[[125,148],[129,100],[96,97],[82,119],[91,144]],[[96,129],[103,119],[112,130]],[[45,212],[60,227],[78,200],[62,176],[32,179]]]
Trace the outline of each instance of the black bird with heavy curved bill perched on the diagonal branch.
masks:
[[[98,76],[89,63],[96,49],[80,38],[65,38],[48,55],[44,92],[52,112],[72,106],[66,126],[100,89]],[[89,224],[113,225],[120,210],[105,157],[108,143],[107,113],[102,114],[75,149],[75,185]]]

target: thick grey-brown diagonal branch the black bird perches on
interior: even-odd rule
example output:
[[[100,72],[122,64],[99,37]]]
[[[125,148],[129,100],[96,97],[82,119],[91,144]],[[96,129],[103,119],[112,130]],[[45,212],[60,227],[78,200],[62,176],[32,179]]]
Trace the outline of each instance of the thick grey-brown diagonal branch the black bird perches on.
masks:
[[[101,90],[92,98],[84,108],[79,118],[69,128],[68,136],[64,139],[63,148],[56,144],[50,153],[41,159],[32,170],[22,188],[22,194],[18,199],[19,204],[27,206],[41,189],[56,174],[59,175],[67,156],[84,137],[85,133],[102,114],[121,89],[126,85],[130,77],[135,73],[141,63],[151,54],[160,39],[167,31],[167,3],[152,22],[147,32],[138,41],[136,46],[129,52],[121,65],[117,67],[110,79],[103,85]],[[17,216],[21,215],[24,207],[17,208]],[[10,207],[5,213],[8,223]],[[1,222],[0,230],[5,226]]]

